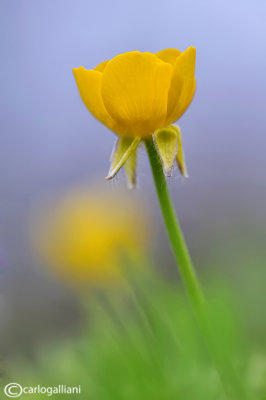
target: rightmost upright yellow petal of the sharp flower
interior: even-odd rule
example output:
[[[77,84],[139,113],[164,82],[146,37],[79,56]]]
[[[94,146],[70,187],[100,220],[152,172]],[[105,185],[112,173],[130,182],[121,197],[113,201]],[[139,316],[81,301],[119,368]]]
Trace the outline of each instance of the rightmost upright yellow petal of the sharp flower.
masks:
[[[193,99],[196,88],[195,62],[194,47],[189,47],[176,59],[168,95],[167,125],[180,118]]]

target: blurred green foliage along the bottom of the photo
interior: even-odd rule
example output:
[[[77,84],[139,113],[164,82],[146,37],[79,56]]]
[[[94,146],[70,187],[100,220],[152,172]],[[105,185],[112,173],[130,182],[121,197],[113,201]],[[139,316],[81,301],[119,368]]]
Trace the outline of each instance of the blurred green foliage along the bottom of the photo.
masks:
[[[82,400],[230,398],[177,284],[146,276],[135,280],[130,294],[90,296],[84,307],[89,318],[80,337],[43,349],[34,365],[16,362],[6,379],[31,386],[80,384],[82,394],[71,396]],[[233,366],[228,387],[238,379],[247,399],[265,399],[266,358],[249,354],[234,302],[222,287],[209,290],[209,317],[214,344],[225,355],[221,367]]]

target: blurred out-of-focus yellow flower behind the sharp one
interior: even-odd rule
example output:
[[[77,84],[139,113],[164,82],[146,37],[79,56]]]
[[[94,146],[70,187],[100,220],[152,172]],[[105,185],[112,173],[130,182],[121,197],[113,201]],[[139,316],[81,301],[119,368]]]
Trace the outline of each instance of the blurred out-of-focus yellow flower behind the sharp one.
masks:
[[[120,276],[123,260],[147,243],[141,214],[122,194],[73,190],[35,218],[34,246],[64,280],[109,282]]]

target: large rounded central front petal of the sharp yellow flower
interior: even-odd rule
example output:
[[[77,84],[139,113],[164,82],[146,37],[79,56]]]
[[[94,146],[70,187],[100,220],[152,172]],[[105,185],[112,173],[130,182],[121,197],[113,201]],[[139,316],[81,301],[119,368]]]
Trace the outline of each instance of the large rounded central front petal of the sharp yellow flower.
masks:
[[[103,71],[104,105],[127,136],[147,136],[165,120],[172,66],[151,53],[133,51]]]

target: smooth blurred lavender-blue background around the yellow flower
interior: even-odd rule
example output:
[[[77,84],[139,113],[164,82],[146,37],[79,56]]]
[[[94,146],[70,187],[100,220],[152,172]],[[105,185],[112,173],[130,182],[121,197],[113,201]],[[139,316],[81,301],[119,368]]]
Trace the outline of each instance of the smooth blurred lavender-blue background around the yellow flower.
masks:
[[[72,68],[130,50],[190,45],[197,48],[197,92],[179,121],[190,178],[176,171],[169,183],[200,274],[233,285],[247,326],[262,337],[265,1],[2,0],[0,15],[1,353],[29,350],[79,324],[73,293],[35,268],[32,210],[75,185],[97,182],[112,192],[126,184],[121,173],[104,182],[115,136],[82,104]],[[134,196],[159,224],[157,264],[174,271],[144,151],[138,186]]]

